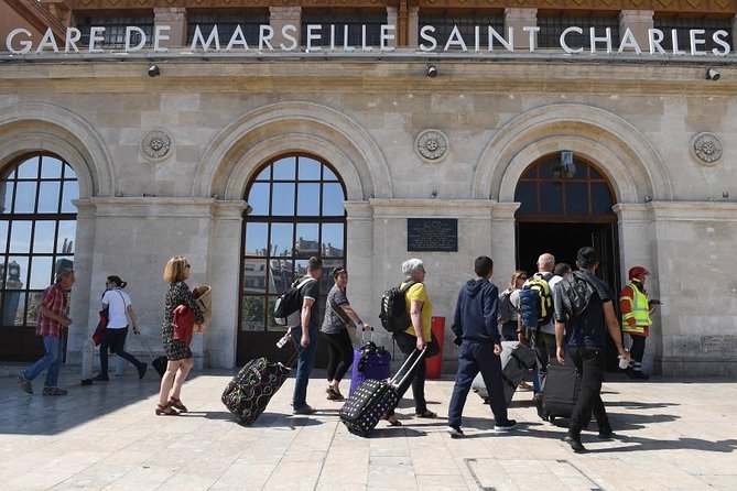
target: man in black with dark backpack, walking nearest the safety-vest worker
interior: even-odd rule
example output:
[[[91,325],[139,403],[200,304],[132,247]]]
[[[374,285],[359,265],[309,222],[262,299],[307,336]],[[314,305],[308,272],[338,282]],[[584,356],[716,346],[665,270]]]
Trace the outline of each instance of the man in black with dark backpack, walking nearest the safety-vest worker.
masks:
[[[599,426],[599,438],[613,438],[611,425],[601,401],[601,381],[606,369],[607,330],[619,356],[628,358],[621,343],[619,323],[615,316],[611,288],[594,275],[599,265],[592,248],[581,248],[576,258],[578,271],[570,274],[554,290],[555,343],[557,360],[565,364],[563,332],[571,359],[581,377],[581,391],[571,414],[565,441],[574,451],[586,451],[581,430],[592,418]],[[578,282],[578,283],[576,283]]]

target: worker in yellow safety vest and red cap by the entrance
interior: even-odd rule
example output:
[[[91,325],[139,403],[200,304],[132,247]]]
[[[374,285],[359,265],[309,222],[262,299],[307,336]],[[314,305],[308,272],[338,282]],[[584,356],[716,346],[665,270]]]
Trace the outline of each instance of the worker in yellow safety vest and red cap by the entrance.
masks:
[[[660,301],[648,299],[644,291],[646,275],[648,270],[642,266],[633,266],[629,270],[629,283],[619,294],[619,310],[621,312],[622,331],[632,339],[630,349],[630,364],[627,375],[630,379],[647,380],[649,377],[642,373],[642,356],[644,354],[644,340],[650,334],[650,314],[652,314]]]

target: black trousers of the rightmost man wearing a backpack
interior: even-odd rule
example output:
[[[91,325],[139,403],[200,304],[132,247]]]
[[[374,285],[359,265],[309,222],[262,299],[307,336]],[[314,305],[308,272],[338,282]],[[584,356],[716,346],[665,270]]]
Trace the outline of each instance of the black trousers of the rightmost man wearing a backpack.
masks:
[[[578,437],[592,419],[592,412],[600,430],[611,430],[601,401],[601,381],[607,368],[606,348],[572,347],[571,360],[581,377],[581,391],[571,414],[568,435]]]

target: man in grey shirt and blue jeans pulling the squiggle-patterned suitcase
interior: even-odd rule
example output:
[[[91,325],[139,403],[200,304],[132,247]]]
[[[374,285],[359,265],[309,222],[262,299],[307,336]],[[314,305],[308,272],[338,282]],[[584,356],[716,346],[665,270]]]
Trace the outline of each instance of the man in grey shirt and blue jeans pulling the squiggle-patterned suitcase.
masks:
[[[313,414],[314,408],[307,404],[307,383],[310,383],[310,373],[315,364],[315,352],[317,351],[317,341],[319,335],[319,323],[317,315],[317,299],[319,298],[319,279],[323,275],[323,261],[317,258],[310,258],[307,263],[307,275],[300,280],[312,279],[302,287],[302,312],[300,314],[300,325],[290,329],[292,340],[300,357],[296,363],[296,377],[294,382],[294,395],[292,396],[292,406],[294,414]]]

